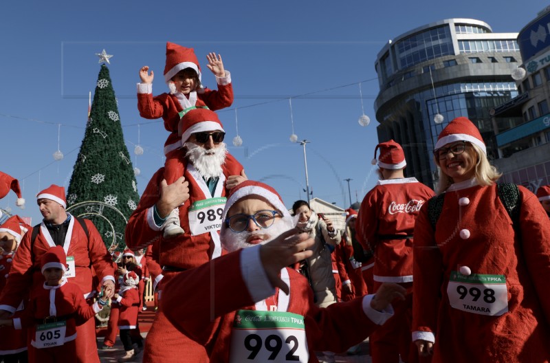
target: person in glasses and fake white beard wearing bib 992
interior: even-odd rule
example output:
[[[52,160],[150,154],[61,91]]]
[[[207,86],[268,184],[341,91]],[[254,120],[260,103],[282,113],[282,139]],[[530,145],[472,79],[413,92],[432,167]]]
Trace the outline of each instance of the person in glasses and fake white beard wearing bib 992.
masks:
[[[166,317],[217,362],[318,362],[314,351],[344,351],[393,315],[405,289],[382,284],[326,308],[314,304],[307,279],[286,266],[311,256],[314,240],[293,228],[277,192],[258,181],[233,188],[221,240],[232,253],[166,284]]]

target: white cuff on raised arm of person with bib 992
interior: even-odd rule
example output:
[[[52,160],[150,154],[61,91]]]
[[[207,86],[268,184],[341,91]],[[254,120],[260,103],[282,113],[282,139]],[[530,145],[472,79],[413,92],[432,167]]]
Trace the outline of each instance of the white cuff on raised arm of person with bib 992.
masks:
[[[260,259],[260,247],[261,245],[255,245],[241,250],[241,276],[254,302],[275,294]]]

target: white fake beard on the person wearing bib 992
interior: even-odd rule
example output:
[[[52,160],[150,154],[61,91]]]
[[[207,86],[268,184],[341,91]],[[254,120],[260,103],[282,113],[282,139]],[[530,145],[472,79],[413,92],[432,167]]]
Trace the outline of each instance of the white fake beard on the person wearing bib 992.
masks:
[[[294,225],[292,224],[292,219],[289,218],[281,218],[280,221],[274,221],[270,228],[255,230],[253,232],[248,232],[245,230],[237,233],[233,232],[229,227],[226,228],[224,226],[221,234],[221,243],[223,244],[225,250],[228,250],[228,252],[234,252],[241,250],[241,248],[249,248],[254,246],[252,243],[248,243],[246,241],[249,236],[256,234],[267,236],[267,238],[260,243],[261,245],[265,245],[265,243],[273,241],[284,232],[287,232],[287,230],[291,230],[293,227]]]

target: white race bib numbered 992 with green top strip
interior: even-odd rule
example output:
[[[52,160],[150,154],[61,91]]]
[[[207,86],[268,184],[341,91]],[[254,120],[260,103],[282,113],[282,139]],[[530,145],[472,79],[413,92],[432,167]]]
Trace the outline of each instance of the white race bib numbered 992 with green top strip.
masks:
[[[229,361],[308,362],[304,317],[282,311],[237,311]]]

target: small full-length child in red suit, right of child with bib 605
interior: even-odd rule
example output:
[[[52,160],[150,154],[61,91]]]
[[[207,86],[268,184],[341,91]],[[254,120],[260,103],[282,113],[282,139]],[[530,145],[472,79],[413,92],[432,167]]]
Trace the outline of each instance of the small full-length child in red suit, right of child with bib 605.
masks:
[[[133,339],[131,329],[135,329],[137,325],[137,312],[140,308],[140,294],[137,292],[137,284],[140,282],[140,277],[133,271],[126,272],[118,294],[114,298],[120,306],[120,314],[118,316],[118,329],[120,329],[120,340],[124,345],[126,353],[119,358],[118,362],[129,362],[133,360],[134,355],[139,353],[133,349]],[[137,342],[138,348],[141,341]]]

